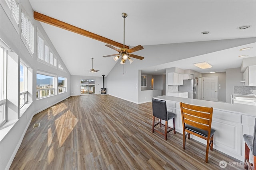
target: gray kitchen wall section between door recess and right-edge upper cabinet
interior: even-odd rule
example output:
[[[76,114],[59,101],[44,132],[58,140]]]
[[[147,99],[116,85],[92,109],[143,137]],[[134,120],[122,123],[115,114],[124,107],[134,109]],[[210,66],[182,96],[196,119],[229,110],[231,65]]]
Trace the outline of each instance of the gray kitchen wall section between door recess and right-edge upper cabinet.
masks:
[[[234,93],[234,86],[242,86],[240,81],[243,78],[243,73],[240,68],[226,69],[226,103],[231,103],[231,94]]]

